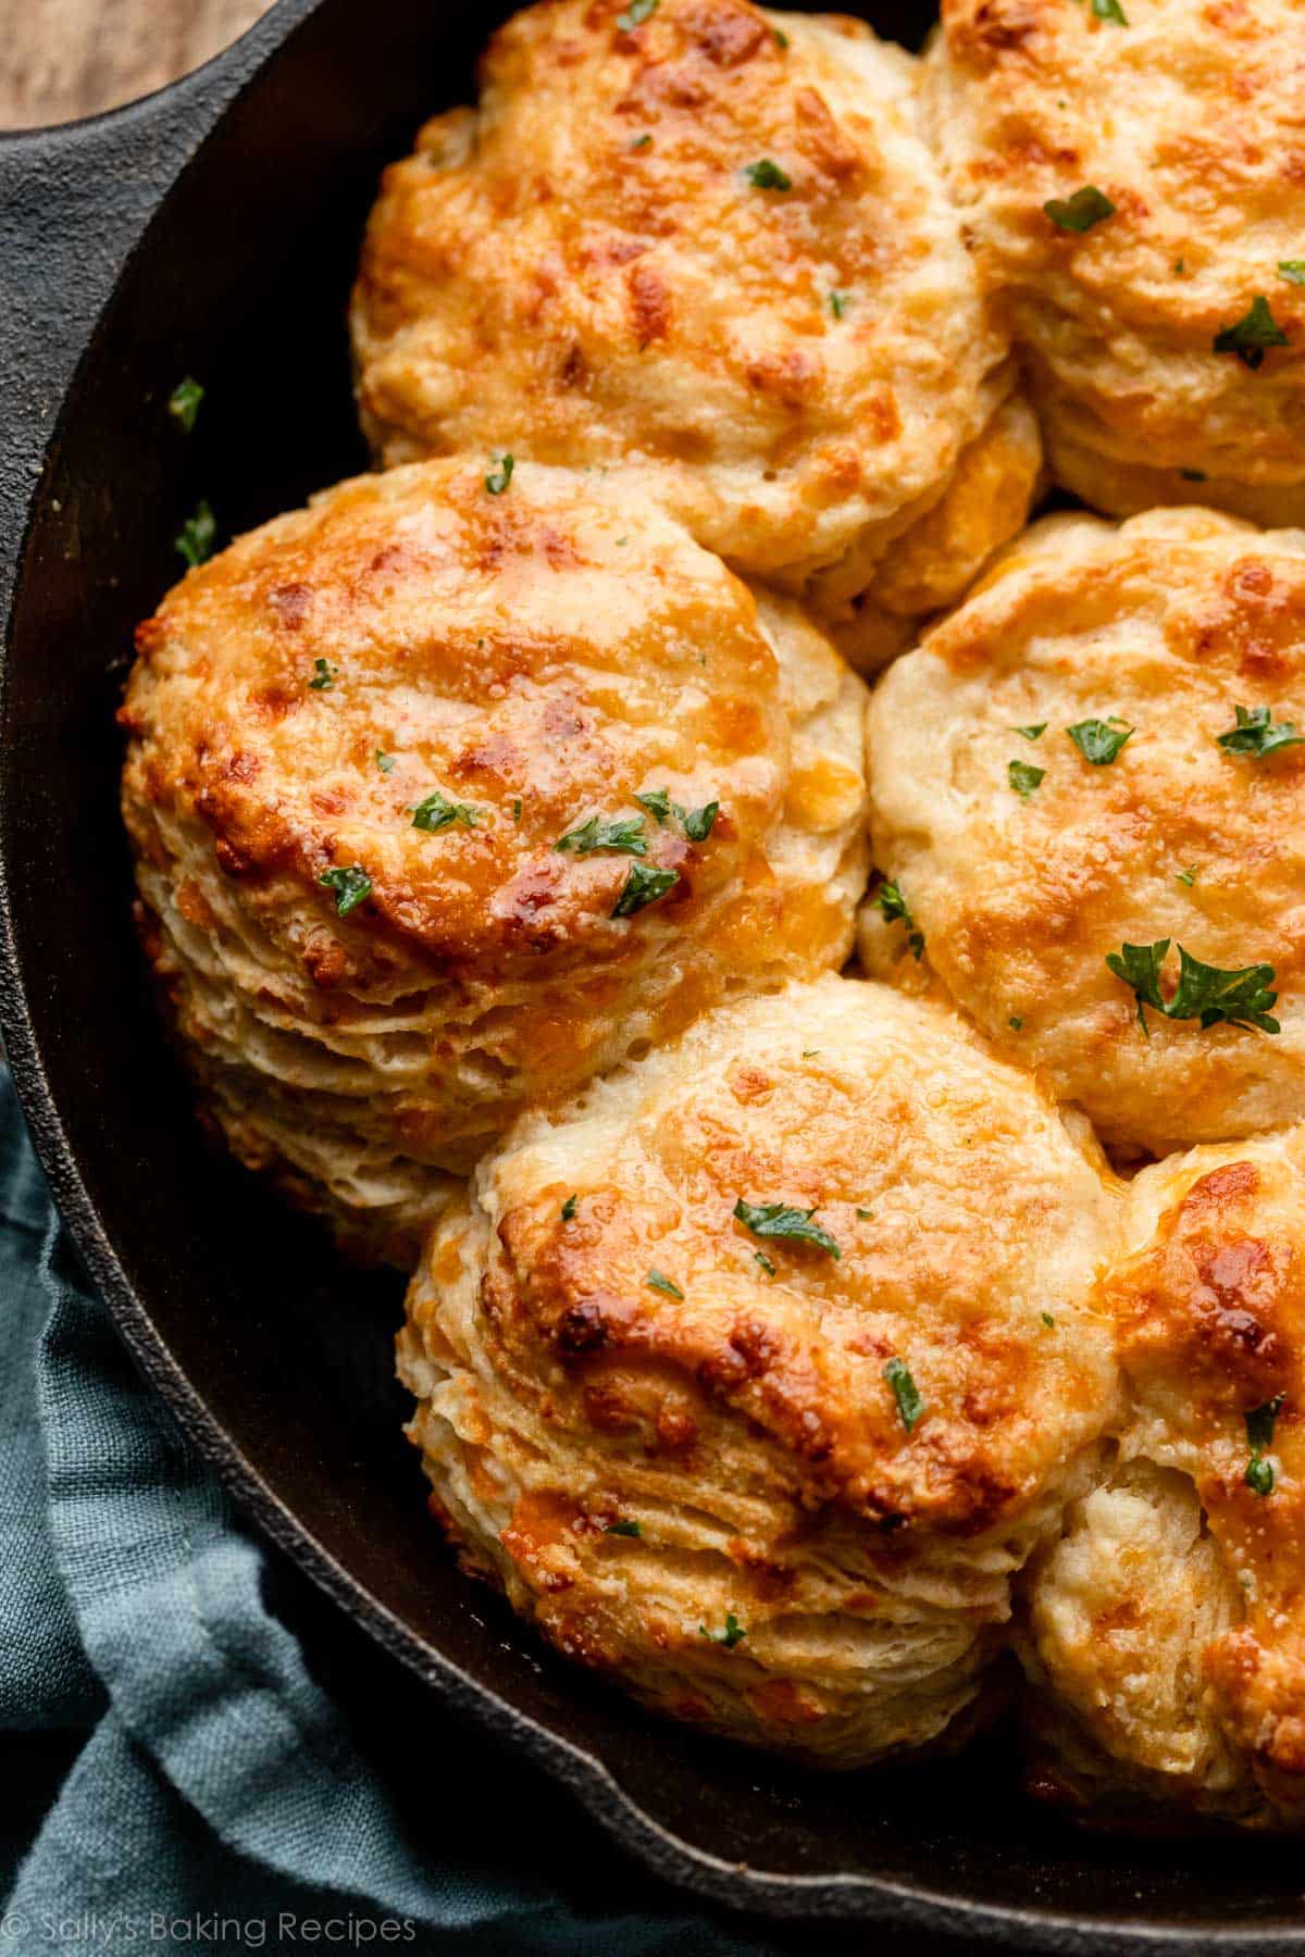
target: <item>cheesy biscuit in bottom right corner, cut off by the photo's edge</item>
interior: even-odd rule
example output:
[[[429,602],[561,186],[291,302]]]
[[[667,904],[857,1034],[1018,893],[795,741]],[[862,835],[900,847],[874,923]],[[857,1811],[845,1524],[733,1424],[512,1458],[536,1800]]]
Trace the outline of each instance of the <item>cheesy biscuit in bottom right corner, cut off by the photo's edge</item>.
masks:
[[[1305,1824],[1305,1131],[1131,1186],[1131,1419],[1031,1583],[1045,1791]]]

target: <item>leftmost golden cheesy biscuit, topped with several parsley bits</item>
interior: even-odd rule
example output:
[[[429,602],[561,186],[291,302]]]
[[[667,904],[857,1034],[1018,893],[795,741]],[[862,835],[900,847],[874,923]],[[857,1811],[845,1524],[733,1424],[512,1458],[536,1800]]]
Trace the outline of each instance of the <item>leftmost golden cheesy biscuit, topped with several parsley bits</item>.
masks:
[[[616,478],[342,483],[139,652],[123,808],[209,1108],[399,1254],[528,1100],[847,953],[865,689]]]

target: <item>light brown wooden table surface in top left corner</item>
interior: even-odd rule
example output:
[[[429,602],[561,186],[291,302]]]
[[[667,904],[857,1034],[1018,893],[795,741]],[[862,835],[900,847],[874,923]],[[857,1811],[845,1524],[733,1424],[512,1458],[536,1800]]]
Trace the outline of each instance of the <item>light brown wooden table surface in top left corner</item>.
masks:
[[[270,0],[0,0],[0,129],[72,121],[198,68]]]

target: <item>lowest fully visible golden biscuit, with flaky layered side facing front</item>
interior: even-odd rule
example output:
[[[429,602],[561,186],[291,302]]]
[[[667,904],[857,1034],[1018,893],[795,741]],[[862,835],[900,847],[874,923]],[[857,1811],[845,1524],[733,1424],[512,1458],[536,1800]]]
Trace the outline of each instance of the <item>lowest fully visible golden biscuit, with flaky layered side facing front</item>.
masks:
[[[734,1738],[855,1765],[968,1724],[1113,1413],[1080,1129],[953,1014],[837,977],[526,1115],[399,1341],[464,1560]]]

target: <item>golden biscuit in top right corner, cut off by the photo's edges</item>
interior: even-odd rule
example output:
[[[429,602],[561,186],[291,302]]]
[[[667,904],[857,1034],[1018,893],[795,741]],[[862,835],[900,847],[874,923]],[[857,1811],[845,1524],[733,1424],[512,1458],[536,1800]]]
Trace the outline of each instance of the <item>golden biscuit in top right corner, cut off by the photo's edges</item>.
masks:
[[[923,110],[1057,478],[1305,523],[1305,12],[943,0]]]

